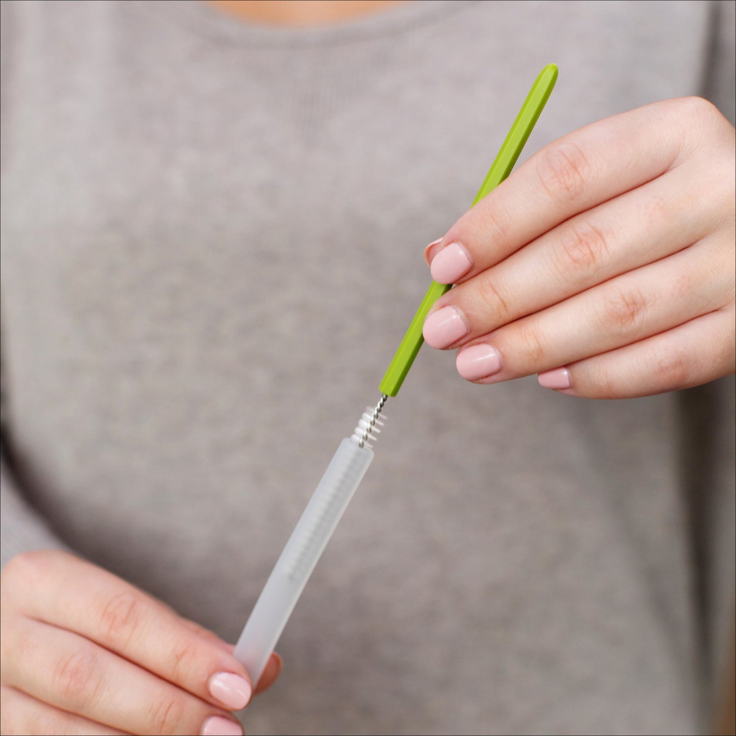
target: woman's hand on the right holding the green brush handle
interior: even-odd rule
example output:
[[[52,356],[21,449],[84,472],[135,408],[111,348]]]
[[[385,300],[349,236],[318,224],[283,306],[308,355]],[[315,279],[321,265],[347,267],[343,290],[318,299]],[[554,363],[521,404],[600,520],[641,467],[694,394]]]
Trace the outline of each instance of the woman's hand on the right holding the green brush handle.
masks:
[[[735,367],[734,128],[699,98],[640,107],[532,156],[427,247],[458,283],[425,321],[475,383],[572,396],[697,386]]]

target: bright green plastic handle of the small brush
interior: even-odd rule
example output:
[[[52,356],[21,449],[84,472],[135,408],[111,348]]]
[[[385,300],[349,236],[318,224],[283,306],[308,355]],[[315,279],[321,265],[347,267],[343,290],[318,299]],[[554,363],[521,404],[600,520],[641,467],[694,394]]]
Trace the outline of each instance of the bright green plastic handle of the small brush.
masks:
[[[511,130],[509,130],[509,135],[506,135],[506,140],[503,141],[503,145],[500,147],[498,155],[488,171],[486,180],[478,190],[478,194],[475,195],[475,199],[473,199],[473,205],[483,199],[486,194],[489,194],[490,191],[495,189],[511,174],[514,163],[519,158],[529,134],[534,129],[534,124],[539,119],[539,115],[542,113],[556,81],[557,67],[554,64],[548,64],[539,72],[539,77],[537,77],[537,81],[534,82],[531,90],[529,90],[524,104],[521,106],[516,120],[514,120],[514,124]],[[450,284],[432,282],[420,304],[420,308],[417,309],[417,314],[411,320],[411,325],[406,330],[406,335],[404,335],[388,370],[383,375],[380,386],[382,394],[395,396],[399,392],[401,384],[404,382],[404,378],[406,378],[411,364],[414,363],[414,358],[417,357],[417,353],[419,353],[419,349],[422,347],[422,342],[424,342],[424,337],[422,336],[424,320],[434,302],[442,294],[447,293],[450,290],[450,286]]]

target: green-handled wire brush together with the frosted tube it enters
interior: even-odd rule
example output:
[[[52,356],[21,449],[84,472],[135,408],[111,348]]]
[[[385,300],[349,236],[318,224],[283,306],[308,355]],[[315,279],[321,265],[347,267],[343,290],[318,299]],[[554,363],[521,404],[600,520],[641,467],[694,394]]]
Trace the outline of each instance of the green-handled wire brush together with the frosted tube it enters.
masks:
[[[539,73],[483,185],[475,195],[473,205],[511,173],[549,99],[556,79],[557,67],[554,64],[545,66]],[[432,282],[383,376],[379,386],[381,399],[375,408],[367,407],[353,436],[340,443],[255,603],[235,649],[236,659],[244,665],[254,685],[261,679],[266,662],[274,651],[319,556],[371,464],[371,443],[381,432],[385,419],[381,415],[383,406],[389,396],[396,396],[399,392],[422,347],[424,320],[434,302],[448,289],[450,285]]]

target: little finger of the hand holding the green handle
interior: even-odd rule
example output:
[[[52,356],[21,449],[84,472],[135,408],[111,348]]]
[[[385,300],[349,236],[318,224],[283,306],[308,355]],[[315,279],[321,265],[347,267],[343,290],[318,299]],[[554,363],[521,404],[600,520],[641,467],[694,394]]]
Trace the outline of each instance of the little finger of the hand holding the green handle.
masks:
[[[734,372],[735,314],[718,310],[603,355],[539,376],[559,393],[591,399],[629,399],[689,389]]]

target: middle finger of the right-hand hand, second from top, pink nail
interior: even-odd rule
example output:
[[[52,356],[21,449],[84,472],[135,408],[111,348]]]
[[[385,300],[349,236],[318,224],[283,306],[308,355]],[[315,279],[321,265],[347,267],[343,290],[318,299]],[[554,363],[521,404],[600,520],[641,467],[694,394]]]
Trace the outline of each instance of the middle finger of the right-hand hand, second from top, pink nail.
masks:
[[[437,330],[447,314],[438,314],[442,309],[454,306],[464,318],[458,328],[467,334],[452,343],[458,347],[706,236],[718,226],[718,203],[688,169],[679,167],[567,220],[456,286],[437,300],[425,322],[428,344],[449,347],[446,333]]]

